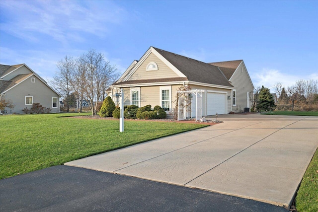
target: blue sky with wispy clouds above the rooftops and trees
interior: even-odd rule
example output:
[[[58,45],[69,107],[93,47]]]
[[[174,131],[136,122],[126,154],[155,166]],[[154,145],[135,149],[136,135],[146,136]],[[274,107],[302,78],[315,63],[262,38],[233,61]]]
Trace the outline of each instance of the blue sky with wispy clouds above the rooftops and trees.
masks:
[[[0,64],[25,63],[44,79],[90,48],[123,72],[150,46],[242,59],[255,87],[318,80],[318,1],[0,1]]]

